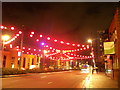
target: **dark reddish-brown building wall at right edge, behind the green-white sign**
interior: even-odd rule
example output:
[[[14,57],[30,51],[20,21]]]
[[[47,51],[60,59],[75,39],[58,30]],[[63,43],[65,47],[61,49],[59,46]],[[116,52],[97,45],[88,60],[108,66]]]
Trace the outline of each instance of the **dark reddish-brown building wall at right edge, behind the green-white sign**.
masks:
[[[115,45],[115,54],[110,57],[113,60],[113,78],[118,80],[120,73],[120,8],[117,8],[109,27],[109,40],[113,41]]]

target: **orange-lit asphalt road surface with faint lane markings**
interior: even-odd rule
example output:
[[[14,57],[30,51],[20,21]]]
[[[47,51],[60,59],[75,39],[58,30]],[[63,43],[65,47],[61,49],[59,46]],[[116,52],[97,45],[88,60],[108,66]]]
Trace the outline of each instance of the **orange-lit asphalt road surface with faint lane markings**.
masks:
[[[62,71],[2,78],[2,88],[82,88],[87,75],[80,71]]]

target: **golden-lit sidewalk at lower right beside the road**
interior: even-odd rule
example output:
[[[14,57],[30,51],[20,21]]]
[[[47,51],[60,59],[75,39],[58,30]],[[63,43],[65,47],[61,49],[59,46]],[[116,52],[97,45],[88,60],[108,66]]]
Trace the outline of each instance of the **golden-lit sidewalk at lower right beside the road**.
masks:
[[[106,76],[105,73],[94,73],[89,76],[86,88],[118,88],[118,82]]]

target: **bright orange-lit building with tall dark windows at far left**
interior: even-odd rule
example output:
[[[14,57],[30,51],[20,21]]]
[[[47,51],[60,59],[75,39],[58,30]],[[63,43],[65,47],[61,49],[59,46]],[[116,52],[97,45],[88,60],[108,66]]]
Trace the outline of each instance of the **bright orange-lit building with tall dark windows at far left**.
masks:
[[[40,67],[40,57],[36,55],[23,54],[20,60],[15,50],[2,51],[2,68],[32,69]]]

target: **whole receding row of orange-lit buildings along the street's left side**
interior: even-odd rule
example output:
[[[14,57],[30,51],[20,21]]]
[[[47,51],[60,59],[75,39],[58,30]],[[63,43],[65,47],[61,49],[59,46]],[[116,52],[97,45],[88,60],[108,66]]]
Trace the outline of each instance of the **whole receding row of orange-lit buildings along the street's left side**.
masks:
[[[38,55],[22,54],[20,59],[19,52],[16,49],[1,50],[2,59],[0,68],[16,68],[16,69],[70,69],[69,60],[54,60],[43,58]]]

